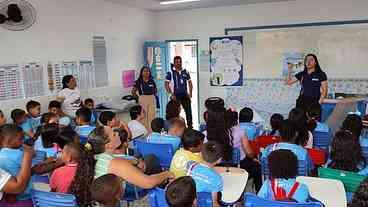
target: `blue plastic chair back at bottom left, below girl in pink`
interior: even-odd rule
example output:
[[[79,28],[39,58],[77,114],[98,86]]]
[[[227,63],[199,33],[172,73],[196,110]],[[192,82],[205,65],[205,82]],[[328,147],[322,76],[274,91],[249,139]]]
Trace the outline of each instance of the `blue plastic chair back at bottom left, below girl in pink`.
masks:
[[[34,207],[77,207],[74,195],[32,190]]]

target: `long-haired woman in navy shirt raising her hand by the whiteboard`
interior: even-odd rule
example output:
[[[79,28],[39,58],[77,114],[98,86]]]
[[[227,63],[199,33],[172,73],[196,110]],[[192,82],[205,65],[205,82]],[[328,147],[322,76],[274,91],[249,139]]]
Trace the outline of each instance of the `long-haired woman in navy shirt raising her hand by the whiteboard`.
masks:
[[[327,97],[328,82],[327,75],[322,71],[317,56],[308,54],[304,58],[304,70],[292,76],[292,71],[289,70],[286,80],[287,85],[293,85],[300,82],[301,90],[296,107],[308,110],[308,107],[313,103],[323,103],[323,99]]]

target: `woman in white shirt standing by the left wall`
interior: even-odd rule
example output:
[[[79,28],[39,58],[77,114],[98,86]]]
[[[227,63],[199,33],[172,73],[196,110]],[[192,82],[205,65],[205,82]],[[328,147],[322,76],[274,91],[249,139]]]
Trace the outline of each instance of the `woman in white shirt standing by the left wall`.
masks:
[[[63,89],[58,93],[57,100],[61,102],[63,111],[70,117],[81,107],[81,95],[77,88],[77,80],[72,75],[66,75],[62,80]]]

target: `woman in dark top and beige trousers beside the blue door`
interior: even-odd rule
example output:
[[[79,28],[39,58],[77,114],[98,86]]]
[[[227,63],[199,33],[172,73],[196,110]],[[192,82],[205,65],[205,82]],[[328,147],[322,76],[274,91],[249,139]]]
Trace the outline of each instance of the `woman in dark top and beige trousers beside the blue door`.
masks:
[[[132,94],[139,97],[139,104],[146,112],[143,120],[143,125],[147,130],[151,130],[151,121],[156,118],[156,102],[155,94],[157,93],[157,86],[151,71],[147,66],[143,66],[138,80],[135,81]]]

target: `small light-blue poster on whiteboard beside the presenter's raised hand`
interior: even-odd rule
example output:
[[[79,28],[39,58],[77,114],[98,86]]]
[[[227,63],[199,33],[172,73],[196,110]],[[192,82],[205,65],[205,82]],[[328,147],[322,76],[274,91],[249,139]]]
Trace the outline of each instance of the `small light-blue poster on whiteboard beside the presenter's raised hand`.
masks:
[[[282,60],[282,77],[286,78],[289,70],[291,75],[294,76],[298,72],[304,70],[304,53],[300,52],[288,52],[283,54]]]

